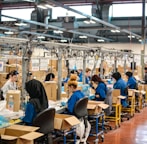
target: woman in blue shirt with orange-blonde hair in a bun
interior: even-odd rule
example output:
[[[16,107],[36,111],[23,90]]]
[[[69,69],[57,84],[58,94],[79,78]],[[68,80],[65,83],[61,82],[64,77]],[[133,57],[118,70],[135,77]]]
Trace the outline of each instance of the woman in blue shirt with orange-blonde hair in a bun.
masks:
[[[71,115],[74,115],[74,106],[76,102],[84,97],[84,94],[80,90],[77,90],[77,87],[78,87],[77,76],[71,75],[68,81],[68,90],[69,93],[72,93],[72,95],[70,96],[67,102],[68,113]]]

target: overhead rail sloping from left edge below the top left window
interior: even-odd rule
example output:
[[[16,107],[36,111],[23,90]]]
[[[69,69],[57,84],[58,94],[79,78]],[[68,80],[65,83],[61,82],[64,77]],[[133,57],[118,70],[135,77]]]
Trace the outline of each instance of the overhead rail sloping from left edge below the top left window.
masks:
[[[100,37],[100,36],[96,36],[96,35],[92,35],[92,34],[88,34],[88,33],[83,33],[83,32],[77,32],[77,31],[73,31],[73,30],[67,30],[65,28],[53,26],[53,25],[50,25],[50,24],[44,24],[44,23],[41,23],[41,22],[36,22],[36,21],[32,21],[32,20],[25,20],[25,19],[11,17],[11,16],[7,16],[7,15],[1,15],[1,16],[11,18],[11,19],[20,20],[20,21],[23,21],[23,22],[26,22],[26,23],[29,23],[29,24],[39,25],[39,26],[43,26],[43,27],[49,27],[49,28],[52,28],[52,29],[55,29],[55,30],[66,31],[66,32],[73,33],[73,34],[81,34],[81,35],[92,37],[92,38],[104,39],[106,41],[113,41],[112,39],[108,39],[108,38],[105,38],[105,37]]]

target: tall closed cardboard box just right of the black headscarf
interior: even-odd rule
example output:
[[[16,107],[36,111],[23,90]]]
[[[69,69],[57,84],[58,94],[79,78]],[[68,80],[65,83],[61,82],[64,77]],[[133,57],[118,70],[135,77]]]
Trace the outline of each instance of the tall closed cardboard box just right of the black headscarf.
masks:
[[[48,81],[43,83],[48,100],[57,100],[57,83],[55,81]]]

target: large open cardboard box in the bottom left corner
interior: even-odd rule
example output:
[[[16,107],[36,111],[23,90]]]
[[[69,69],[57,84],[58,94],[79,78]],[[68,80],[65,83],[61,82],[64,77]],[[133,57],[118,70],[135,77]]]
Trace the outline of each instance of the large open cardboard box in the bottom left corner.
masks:
[[[7,144],[34,144],[34,140],[43,136],[35,132],[39,127],[12,125],[0,129],[1,141]]]

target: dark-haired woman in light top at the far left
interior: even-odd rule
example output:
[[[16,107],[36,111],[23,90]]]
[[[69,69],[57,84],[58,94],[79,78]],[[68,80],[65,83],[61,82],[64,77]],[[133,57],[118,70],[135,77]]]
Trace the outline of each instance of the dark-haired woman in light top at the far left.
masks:
[[[18,75],[18,72],[16,70],[13,70],[7,74],[6,79],[8,80],[1,88],[1,90],[3,91],[4,98],[6,98],[6,93],[8,92],[8,90],[17,89],[17,85],[16,85],[17,75]]]

